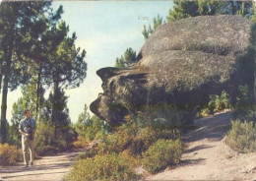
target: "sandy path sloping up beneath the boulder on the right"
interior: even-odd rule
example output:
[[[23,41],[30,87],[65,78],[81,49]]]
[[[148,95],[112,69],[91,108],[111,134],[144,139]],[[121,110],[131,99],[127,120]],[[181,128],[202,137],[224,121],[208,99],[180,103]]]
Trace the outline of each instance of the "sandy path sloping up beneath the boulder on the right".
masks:
[[[181,164],[147,180],[256,181],[256,152],[239,154],[224,144],[229,120],[227,112],[195,121],[199,129],[184,136],[188,148]]]

